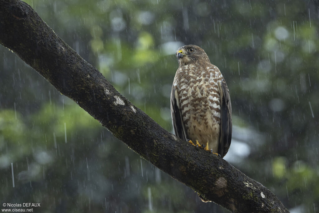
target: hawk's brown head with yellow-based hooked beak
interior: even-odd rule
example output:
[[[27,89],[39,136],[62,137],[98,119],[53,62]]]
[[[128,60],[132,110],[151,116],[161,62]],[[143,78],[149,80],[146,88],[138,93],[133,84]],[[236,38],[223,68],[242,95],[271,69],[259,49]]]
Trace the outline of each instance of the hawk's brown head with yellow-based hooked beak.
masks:
[[[180,66],[193,63],[211,63],[204,49],[196,45],[185,45],[178,48],[176,57]]]

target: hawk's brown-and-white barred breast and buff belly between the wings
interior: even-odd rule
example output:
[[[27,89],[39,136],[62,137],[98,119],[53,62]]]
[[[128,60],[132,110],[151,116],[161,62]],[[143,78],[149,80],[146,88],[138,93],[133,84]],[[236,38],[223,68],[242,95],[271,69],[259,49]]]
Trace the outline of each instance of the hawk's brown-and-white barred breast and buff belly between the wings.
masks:
[[[189,64],[179,67],[174,78],[179,105],[188,139],[209,143],[217,152],[220,129],[220,93],[222,79],[214,66]]]

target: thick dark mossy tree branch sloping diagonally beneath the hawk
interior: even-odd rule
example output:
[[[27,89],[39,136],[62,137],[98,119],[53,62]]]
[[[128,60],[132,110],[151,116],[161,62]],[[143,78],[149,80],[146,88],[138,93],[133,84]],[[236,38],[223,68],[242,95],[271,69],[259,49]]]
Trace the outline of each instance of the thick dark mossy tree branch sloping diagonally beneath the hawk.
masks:
[[[0,0],[0,43],[137,154],[205,199],[232,212],[288,212],[263,185],[222,158],[177,139],[135,107],[28,4]]]

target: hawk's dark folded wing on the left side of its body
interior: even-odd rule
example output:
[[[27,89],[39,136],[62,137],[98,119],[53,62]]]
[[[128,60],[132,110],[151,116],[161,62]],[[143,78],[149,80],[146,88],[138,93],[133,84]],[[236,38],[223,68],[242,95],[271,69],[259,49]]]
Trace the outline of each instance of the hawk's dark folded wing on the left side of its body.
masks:
[[[173,120],[173,126],[175,135],[184,141],[187,140],[185,125],[182,118],[182,113],[180,110],[179,98],[178,98],[178,90],[172,87],[171,92],[171,115]]]

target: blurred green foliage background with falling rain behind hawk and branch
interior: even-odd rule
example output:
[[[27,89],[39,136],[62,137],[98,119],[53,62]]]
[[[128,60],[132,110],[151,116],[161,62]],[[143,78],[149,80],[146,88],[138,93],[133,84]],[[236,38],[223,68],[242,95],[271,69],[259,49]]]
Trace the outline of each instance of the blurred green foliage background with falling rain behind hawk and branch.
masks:
[[[172,132],[175,50],[201,46],[230,90],[235,130],[226,160],[291,212],[319,211],[317,2],[26,3]],[[2,203],[41,202],[38,212],[226,212],[141,159],[11,51],[0,52]]]

